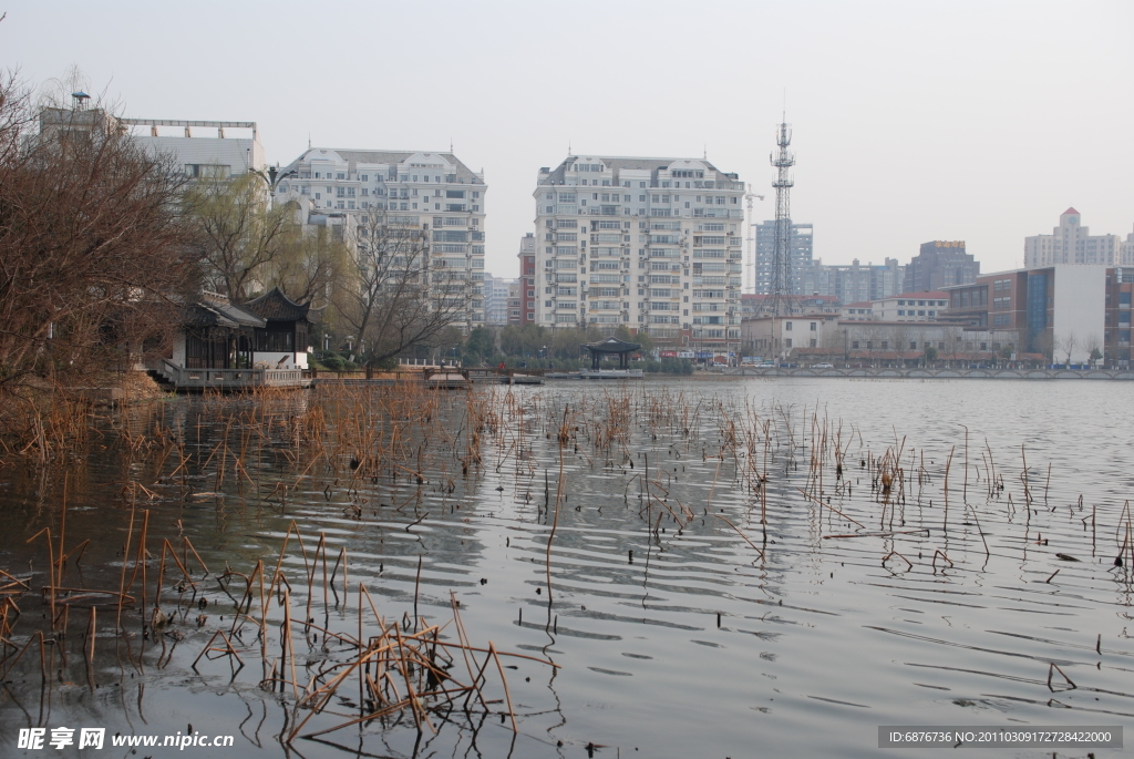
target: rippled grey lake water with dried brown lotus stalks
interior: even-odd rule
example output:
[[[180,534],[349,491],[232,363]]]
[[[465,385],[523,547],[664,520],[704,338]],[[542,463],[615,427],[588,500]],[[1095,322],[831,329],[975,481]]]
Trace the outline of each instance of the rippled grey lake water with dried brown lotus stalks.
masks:
[[[1132,393],[670,380],[401,405],[321,389],[105,414],[82,457],[0,470],[12,575],[0,579],[32,589],[3,590],[0,747],[18,752],[17,727],[192,724],[272,756],[751,756],[756,741],[822,756],[873,753],[879,724],[1122,724],[1134,715],[1129,541],[1115,563],[1134,475],[1128,425],[1109,410]],[[147,606],[162,541],[195,581],[198,560],[212,572],[198,588],[167,574],[170,623],[144,627],[138,604],[116,633],[112,593],[143,511]],[[237,623],[234,573],[273,564],[293,522],[307,550],[322,538],[333,575],[324,602],[322,559],[293,547],[281,562],[310,625],[293,649],[301,684],[347,656],[315,627],[357,631],[359,583],[408,630],[449,616],[451,591],[474,642],[561,667],[507,663],[519,734],[493,686],[490,714],[435,714],[437,734],[401,711],[284,747],[308,712],[270,676],[290,666],[274,616],[274,661],[259,661],[264,641],[244,625],[232,646],[246,666],[214,656],[195,672]],[[42,537],[25,541],[44,528],[56,551],[91,541],[56,584],[111,594],[60,591],[67,635],[48,635],[41,666],[51,564]],[[332,571],[340,556],[346,573]],[[1063,676],[1049,680],[1052,666]],[[331,706],[358,715],[346,691]]]

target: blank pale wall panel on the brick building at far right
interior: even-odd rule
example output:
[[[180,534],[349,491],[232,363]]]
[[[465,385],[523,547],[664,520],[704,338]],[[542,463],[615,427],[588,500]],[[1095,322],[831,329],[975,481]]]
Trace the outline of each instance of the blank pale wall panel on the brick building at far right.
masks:
[[[1084,363],[1091,355],[1092,345],[1102,348],[1107,319],[1107,268],[1058,264],[1055,272],[1055,360],[1066,361],[1067,343],[1072,341],[1072,363]]]

